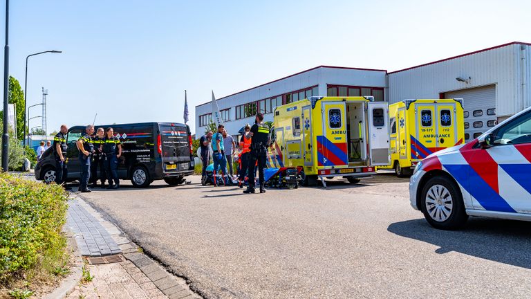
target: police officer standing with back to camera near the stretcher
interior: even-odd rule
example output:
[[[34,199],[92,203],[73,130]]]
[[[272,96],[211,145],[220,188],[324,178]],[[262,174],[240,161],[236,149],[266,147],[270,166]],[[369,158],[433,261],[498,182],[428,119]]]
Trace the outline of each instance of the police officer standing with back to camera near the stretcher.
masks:
[[[264,193],[265,189],[263,188],[263,167],[265,167],[265,160],[267,159],[268,154],[268,145],[269,145],[269,128],[263,123],[263,115],[261,113],[257,114],[255,118],[254,125],[251,127],[251,151],[249,153],[249,164],[248,164],[248,176],[249,176],[249,185],[247,190],[243,193],[254,193],[254,165],[258,162],[258,175],[260,182],[260,193]]]

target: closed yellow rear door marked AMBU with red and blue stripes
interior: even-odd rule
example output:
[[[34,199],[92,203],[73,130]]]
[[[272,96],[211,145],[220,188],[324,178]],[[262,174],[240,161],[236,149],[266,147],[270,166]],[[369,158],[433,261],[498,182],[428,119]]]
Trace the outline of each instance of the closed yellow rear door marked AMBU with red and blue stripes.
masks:
[[[345,102],[322,102],[323,134],[317,136],[317,165],[348,166]]]

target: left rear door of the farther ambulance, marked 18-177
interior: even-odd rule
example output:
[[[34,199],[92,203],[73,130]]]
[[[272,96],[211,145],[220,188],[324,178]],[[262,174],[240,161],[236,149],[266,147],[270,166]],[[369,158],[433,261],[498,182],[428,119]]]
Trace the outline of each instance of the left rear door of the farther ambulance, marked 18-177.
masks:
[[[422,160],[437,150],[436,105],[415,103],[415,136],[411,135],[411,159]]]

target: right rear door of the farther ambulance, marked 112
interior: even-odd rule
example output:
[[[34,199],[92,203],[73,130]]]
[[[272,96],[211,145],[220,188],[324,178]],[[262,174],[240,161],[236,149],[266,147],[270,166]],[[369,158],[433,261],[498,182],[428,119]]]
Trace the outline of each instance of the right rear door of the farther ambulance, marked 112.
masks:
[[[436,104],[438,128],[437,128],[437,150],[453,147],[456,145],[457,119],[456,102],[438,102]]]

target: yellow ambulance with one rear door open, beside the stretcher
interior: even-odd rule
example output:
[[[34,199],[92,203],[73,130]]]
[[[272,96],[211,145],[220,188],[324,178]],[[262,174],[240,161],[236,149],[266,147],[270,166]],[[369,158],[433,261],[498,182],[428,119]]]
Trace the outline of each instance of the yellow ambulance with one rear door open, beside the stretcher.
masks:
[[[389,164],[387,102],[373,97],[310,97],[277,107],[268,165],[297,167],[303,185],[344,176],[357,183]]]

